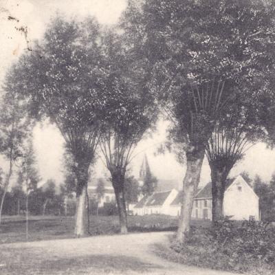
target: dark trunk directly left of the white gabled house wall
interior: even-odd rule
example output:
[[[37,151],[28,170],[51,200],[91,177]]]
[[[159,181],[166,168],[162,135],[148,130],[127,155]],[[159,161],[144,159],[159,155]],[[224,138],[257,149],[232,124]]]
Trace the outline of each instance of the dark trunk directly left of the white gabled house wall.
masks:
[[[228,169],[219,167],[220,164],[210,164],[212,181],[212,223],[223,219],[223,197]]]

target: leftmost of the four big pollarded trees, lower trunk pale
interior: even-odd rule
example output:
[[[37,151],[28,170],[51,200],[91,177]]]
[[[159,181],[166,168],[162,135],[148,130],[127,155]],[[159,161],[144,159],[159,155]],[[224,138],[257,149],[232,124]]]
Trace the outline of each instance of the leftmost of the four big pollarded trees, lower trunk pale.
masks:
[[[76,175],[76,236],[88,232],[87,181],[94,162],[100,129],[98,100],[102,90],[99,26],[52,20],[43,39],[12,68],[9,81],[30,103],[37,119],[50,118],[65,140]]]

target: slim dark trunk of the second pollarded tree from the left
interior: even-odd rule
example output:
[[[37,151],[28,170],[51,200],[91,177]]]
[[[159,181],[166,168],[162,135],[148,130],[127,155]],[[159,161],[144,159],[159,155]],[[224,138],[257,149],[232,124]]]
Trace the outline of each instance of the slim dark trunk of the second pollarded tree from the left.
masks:
[[[120,170],[115,170],[112,173],[112,184],[115,190],[115,199],[118,205],[118,215],[120,217],[120,233],[126,234],[127,230],[127,213],[124,197],[124,173]]]

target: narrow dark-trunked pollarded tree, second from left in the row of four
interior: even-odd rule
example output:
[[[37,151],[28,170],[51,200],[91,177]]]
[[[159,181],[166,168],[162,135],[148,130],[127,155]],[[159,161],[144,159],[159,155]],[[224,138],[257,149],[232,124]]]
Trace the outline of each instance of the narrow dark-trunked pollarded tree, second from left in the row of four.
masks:
[[[105,131],[100,148],[111,173],[120,217],[120,232],[127,232],[124,182],[133,150],[156,120],[153,97],[146,89],[146,71],[137,67],[124,36],[106,32],[102,45],[109,71],[102,100],[106,102]]]

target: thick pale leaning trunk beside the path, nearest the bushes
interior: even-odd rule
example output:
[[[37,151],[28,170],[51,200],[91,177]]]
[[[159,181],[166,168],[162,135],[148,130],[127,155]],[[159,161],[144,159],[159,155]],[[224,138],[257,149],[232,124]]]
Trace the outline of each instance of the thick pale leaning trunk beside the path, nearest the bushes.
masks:
[[[201,176],[201,166],[204,157],[204,150],[199,152],[186,153],[186,175],[183,184],[183,197],[181,214],[179,217],[179,228],[177,230],[177,241],[184,242],[190,233],[190,221],[193,207],[193,199],[197,192]]]

